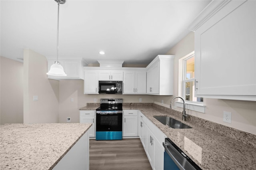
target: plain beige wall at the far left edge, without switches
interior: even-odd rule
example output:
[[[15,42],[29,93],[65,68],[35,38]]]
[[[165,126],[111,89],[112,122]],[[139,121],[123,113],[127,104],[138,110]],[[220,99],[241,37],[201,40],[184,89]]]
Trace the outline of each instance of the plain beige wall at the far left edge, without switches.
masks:
[[[0,124],[23,123],[23,63],[0,59]]]

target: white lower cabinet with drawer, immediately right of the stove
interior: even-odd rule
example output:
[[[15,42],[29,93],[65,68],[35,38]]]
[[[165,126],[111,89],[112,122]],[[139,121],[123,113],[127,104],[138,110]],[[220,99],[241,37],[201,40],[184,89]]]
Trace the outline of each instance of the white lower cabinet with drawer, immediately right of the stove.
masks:
[[[138,110],[124,110],[123,136],[138,136]]]

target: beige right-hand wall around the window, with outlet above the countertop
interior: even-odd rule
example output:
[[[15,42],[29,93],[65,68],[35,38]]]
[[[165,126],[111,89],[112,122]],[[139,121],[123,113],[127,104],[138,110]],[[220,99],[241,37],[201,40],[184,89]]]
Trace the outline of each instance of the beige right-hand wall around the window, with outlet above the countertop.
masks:
[[[174,95],[173,96],[154,96],[154,102],[169,105],[171,99],[179,94],[178,60],[185,55],[194,51],[194,32],[190,32],[185,38],[177,43],[167,54],[175,55],[174,59]],[[228,127],[236,128],[245,132],[256,134],[256,102],[254,101],[237,101],[224,99],[206,99],[204,98],[204,105],[206,105],[206,113],[199,113],[195,111],[186,111],[190,115],[200,117],[212,122],[216,122]],[[182,108],[177,110],[182,111]],[[232,113],[232,124],[224,123],[223,111]]]

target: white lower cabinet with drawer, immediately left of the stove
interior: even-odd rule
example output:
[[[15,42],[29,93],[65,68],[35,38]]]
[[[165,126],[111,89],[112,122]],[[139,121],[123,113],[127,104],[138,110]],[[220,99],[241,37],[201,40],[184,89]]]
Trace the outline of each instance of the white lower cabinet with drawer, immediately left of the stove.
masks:
[[[80,123],[92,123],[92,126],[88,130],[89,137],[95,137],[95,117],[96,111],[80,111]]]

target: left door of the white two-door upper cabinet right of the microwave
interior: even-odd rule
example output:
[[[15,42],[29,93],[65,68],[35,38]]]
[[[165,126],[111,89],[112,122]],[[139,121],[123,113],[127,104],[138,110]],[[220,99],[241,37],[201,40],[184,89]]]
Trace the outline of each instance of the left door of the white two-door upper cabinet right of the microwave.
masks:
[[[124,71],[124,87],[123,93],[135,93],[135,72]]]

